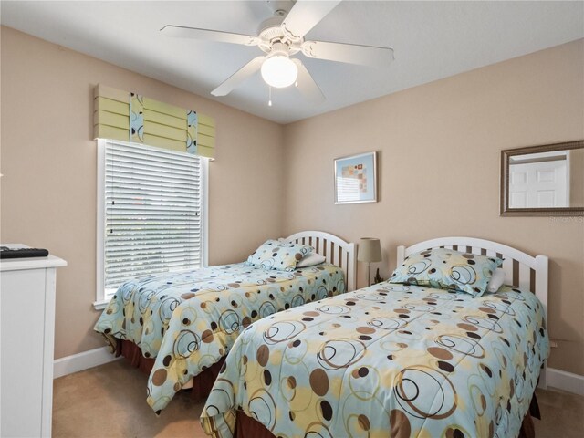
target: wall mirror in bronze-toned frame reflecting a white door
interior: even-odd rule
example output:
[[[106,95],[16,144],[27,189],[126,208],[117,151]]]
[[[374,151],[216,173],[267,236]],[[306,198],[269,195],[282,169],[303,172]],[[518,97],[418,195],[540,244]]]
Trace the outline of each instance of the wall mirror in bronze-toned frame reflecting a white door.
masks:
[[[584,141],[501,151],[501,215],[584,215]]]

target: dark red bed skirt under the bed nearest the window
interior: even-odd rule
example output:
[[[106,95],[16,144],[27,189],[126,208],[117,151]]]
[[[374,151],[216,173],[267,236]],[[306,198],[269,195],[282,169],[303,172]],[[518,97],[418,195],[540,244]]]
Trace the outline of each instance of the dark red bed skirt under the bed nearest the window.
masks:
[[[143,357],[140,347],[138,347],[130,340],[118,339],[118,344],[116,346],[116,356],[120,355],[126,358],[126,360],[130,361],[132,367],[138,368],[145,374],[150,374],[152,368],[154,367],[154,359]],[[194,400],[206,399],[209,395],[209,392],[211,392],[211,389],[213,388],[215,379],[217,379],[224,361],[225,358],[221,358],[221,360],[219,360],[213,366],[203,370],[203,372],[199,375],[194,376],[193,388],[185,391],[191,391],[191,395]]]

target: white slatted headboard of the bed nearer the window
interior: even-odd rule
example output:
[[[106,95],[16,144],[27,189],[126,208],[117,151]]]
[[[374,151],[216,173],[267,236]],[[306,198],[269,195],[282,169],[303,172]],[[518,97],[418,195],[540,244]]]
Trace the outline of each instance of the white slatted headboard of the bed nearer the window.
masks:
[[[319,255],[324,255],[328,263],[337,265],[345,271],[347,291],[355,290],[357,285],[357,259],[355,244],[345,242],[336,235],[323,231],[301,231],[288,235],[285,240],[297,244],[311,245]]]

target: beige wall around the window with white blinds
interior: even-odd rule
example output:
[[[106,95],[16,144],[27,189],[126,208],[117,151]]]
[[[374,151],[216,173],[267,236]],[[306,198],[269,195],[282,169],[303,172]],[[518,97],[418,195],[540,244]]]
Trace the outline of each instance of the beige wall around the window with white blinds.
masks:
[[[68,261],[57,273],[56,358],[105,345],[92,331],[99,312],[91,306],[96,84],[137,91],[216,120],[217,152],[209,183],[211,264],[240,261],[266,236],[280,235],[280,125],[10,28],[2,27],[1,37],[0,239],[47,247]],[[256,172],[260,158],[263,170]],[[27,299],[33,298],[23,295],[24,303]],[[26,308],[20,311],[26,318]]]

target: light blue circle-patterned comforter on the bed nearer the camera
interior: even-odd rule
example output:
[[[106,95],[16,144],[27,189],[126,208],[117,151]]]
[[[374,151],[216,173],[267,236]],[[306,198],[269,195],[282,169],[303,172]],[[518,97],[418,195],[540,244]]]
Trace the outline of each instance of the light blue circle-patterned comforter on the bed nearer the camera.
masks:
[[[246,328],[201,422],[222,438],[237,410],[285,438],[513,437],[548,353],[530,292],[381,283]]]

